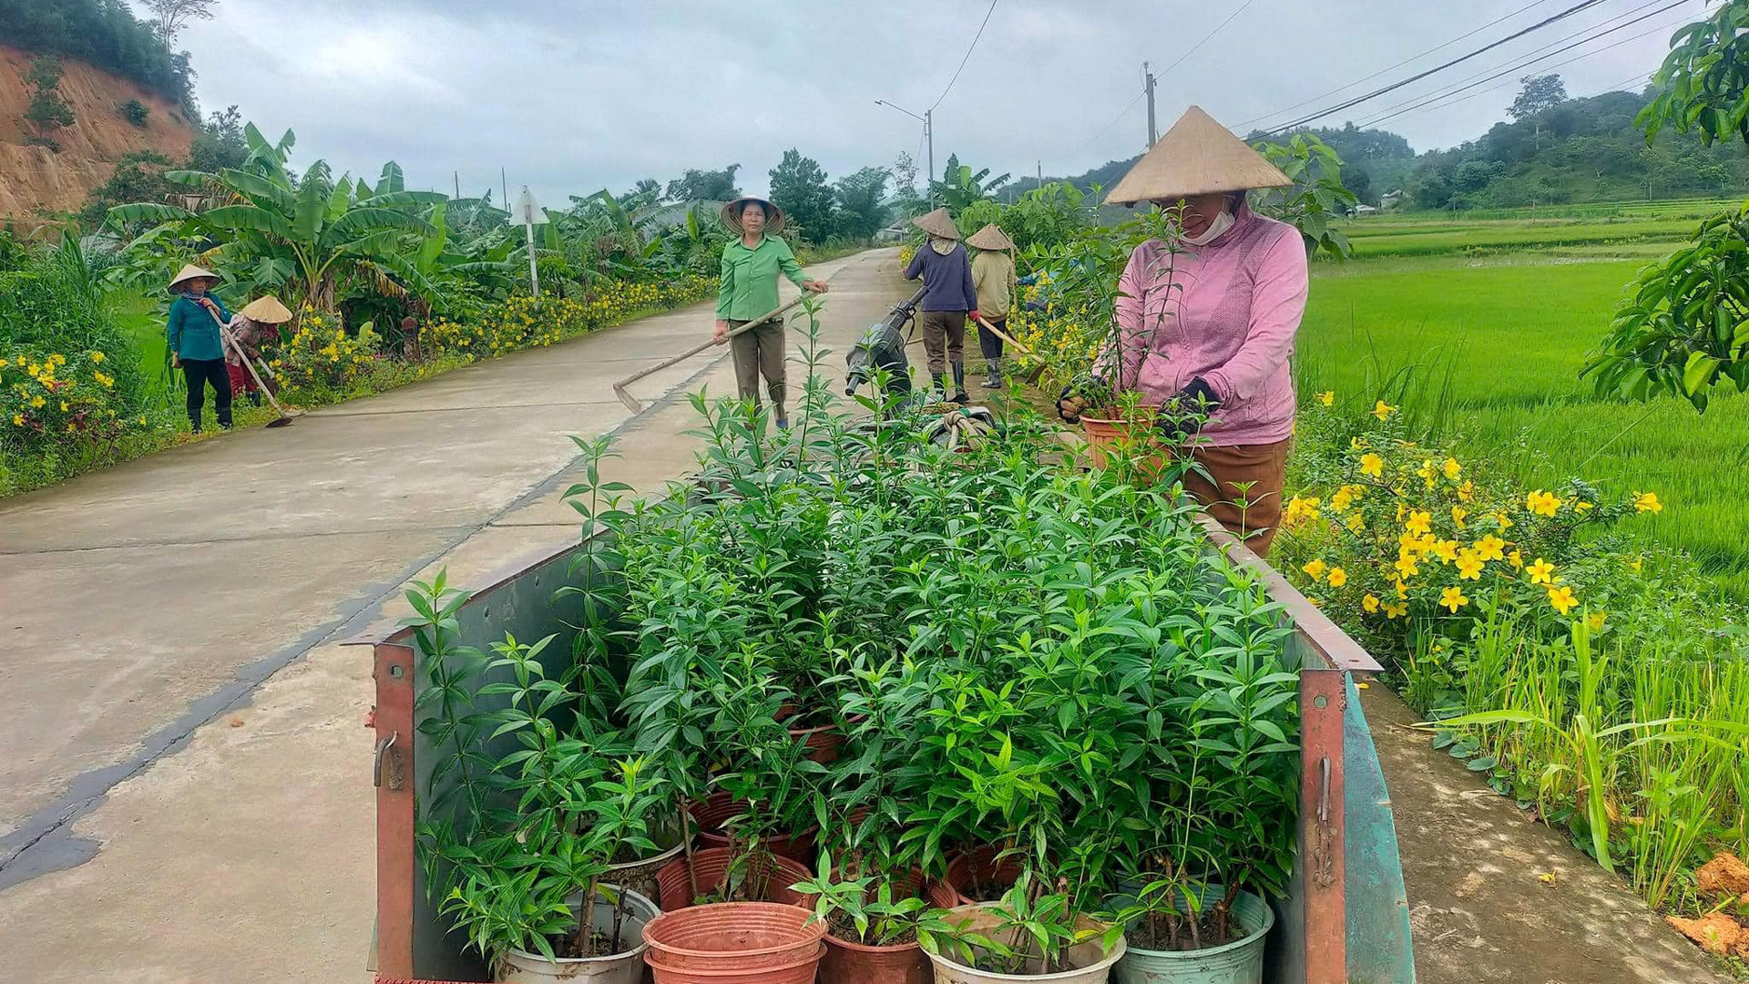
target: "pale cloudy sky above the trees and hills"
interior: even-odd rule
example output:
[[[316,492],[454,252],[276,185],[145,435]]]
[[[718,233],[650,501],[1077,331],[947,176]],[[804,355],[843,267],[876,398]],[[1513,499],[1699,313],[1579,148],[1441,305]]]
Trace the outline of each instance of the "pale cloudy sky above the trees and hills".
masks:
[[[460,172],[467,194],[497,187],[502,166],[512,189],[528,184],[561,205],[565,194],[729,163],[742,165],[743,189],[763,191],[787,147],[831,177],[901,151],[922,159],[920,124],[874,100],[916,114],[941,100],[937,166],[958,152],[997,172],[1042,161],[1048,175],[1079,173],[1146,144],[1142,61],[1161,74],[1161,131],[1189,103],[1249,130],[1293,119],[1286,110],[1301,102],[1308,112],[1399,81],[1576,2],[999,0],[944,98],[988,0],[222,0],[217,19],[180,42],[201,103],[236,103],[269,135],[296,130],[299,161],[322,156],[374,175],[397,159],[411,184],[437,189]],[[1672,2],[1681,5],[1663,11]],[[1576,96],[1637,88],[1670,30],[1700,11],[1702,0],[1602,0],[1319,123],[1411,110],[1445,86],[1506,70],[1459,93],[1471,98],[1380,124],[1417,151],[1452,145],[1501,119],[1529,72],[1560,72]]]

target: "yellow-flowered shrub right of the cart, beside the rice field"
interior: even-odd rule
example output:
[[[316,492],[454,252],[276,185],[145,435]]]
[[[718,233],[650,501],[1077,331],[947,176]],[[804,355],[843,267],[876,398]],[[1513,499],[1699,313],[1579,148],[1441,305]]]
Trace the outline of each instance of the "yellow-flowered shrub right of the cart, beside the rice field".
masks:
[[[1277,566],[1385,653],[1427,625],[1467,637],[1464,623],[1502,604],[1576,618],[1597,571],[1579,531],[1663,508],[1649,492],[1606,501],[1585,481],[1511,487],[1485,462],[1406,439],[1394,406],[1345,415],[1333,394],[1301,410],[1294,469]]]

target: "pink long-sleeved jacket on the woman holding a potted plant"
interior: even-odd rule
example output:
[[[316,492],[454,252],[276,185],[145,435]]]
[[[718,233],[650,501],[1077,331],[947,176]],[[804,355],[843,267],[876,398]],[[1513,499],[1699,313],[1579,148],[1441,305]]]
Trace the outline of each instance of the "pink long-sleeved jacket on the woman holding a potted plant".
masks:
[[[1293,436],[1287,359],[1307,306],[1300,231],[1245,205],[1235,219],[1212,243],[1179,254],[1160,240],[1139,245],[1118,282],[1123,389],[1163,403],[1202,376],[1221,397],[1202,431],[1216,446]]]

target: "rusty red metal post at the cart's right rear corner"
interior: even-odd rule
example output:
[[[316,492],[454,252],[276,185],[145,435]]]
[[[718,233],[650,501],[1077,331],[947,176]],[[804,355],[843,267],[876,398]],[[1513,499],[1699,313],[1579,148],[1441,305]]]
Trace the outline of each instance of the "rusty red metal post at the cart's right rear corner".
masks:
[[[1319,704],[1322,700],[1322,704]],[[1305,868],[1305,984],[1348,980],[1343,856],[1343,711],[1347,672],[1300,671],[1300,865]]]

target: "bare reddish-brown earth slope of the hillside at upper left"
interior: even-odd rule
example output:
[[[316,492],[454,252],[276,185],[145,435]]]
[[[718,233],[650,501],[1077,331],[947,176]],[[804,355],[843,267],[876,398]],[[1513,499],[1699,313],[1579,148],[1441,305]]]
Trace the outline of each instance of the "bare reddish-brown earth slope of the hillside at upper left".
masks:
[[[73,110],[73,124],[54,133],[61,152],[26,147],[24,72],[31,54],[0,46],[0,217],[31,219],[44,212],[75,212],[103,184],[122,156],[157,151],[185,159],[194,128],[164,96],[98,72],[82,61],[63,60],[61,98]],[[150,107],[145,126],[121,116],[128,100]]]

